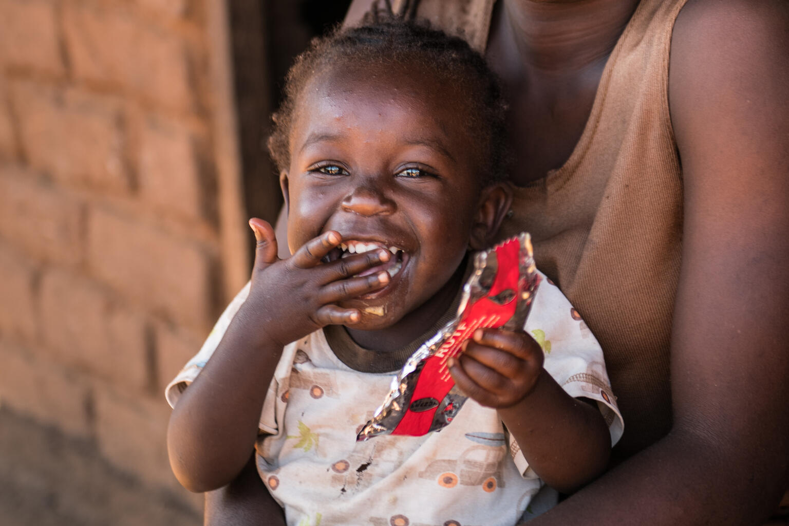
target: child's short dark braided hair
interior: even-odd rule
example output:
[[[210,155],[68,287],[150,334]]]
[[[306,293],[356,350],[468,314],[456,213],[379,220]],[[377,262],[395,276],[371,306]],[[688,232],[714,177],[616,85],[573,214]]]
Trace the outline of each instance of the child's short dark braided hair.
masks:
[[[284,98],[271,116],[274,128],[268,150],[279,171],[290,165],[290,128],[302,88],[324,67],[343,65],[417,65],[457,86],[466,96],[470,121],[466,128],[480,146],[481,181],[488,185],[506,178],[507,150],[504,102],[499,81],[484,58],[465,40],[414,22],[405,16],[380,13],[365,17],[363,25],[336,28],[312,40],[286,76]]]

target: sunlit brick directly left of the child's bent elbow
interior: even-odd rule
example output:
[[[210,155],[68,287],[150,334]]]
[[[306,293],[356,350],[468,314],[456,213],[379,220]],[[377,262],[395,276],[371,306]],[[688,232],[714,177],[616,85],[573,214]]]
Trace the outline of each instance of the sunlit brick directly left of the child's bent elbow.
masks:
[[[132,397],[97,387],[95,411],[99,450],[112,464],[148,483],[178,485],[167,458],[170,408],[164,397]]]

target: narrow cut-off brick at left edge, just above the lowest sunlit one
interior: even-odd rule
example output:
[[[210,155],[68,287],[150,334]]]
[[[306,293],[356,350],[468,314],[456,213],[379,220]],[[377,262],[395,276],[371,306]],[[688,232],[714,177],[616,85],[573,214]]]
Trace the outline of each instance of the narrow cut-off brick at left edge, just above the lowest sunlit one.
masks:
[[[0,244],[0,333],[36,340],[36,264]]]

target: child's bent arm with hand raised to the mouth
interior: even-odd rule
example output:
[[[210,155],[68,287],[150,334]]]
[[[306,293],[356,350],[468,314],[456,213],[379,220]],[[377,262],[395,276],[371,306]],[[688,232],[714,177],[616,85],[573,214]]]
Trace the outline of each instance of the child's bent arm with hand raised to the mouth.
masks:
[[[386,250],[322,263],[342,241],[339,233],[329,231],[290,259],[279,260],[271,226],[259,219],[250,226],[257,246],[249,297],[170,416],[170,465],[191,491],[222,487],[244,468],[282,348],[330,323],[357,322],[356,309],[337,303],[389,281],[385,272],[357,277],[387,261],[391,255]]]

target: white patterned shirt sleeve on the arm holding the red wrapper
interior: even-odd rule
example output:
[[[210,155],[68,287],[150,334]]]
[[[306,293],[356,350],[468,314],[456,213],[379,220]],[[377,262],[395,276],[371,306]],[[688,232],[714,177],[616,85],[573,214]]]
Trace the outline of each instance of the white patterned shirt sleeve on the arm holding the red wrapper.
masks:
[[[614,446],[622,438],[624,421],[611,391],[603,349],[559,288],[544,274],[540,277],[542,282],[524,330],[540,344],[545,354],[543,367],[567,394],[596,401]],[[511,436],[509,440],[515,465],[524,476],[533,476],[520,446]]]

